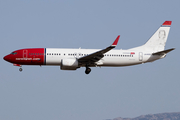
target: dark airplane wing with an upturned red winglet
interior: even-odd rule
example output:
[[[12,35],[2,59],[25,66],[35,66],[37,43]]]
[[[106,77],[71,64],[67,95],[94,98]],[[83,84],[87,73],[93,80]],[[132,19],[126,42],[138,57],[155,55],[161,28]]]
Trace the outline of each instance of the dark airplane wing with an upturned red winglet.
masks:
[[[99,61],[101,58],[104,57],[104,53],[110,51],[111,49],[115,48],[118,41],[119,41],[120,35],[117,36],[113,44],[105,49],[102,49],[100,51],[97,51],[95,53],[91,53],[87,56],[81,57],[78,59],[78,62],[81,64],[94,64],[95,62]]]

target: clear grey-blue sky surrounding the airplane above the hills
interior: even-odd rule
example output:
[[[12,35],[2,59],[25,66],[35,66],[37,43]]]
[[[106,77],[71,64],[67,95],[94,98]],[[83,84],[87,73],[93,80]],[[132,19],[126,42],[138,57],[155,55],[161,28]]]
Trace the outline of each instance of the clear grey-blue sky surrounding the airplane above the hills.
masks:
[[[105,120],[180,112],[179,0],[0,0],[0,120]],[[171,20],[164,59],[62,71],[3,60],[21,48],[116,49],[144,44]]]

